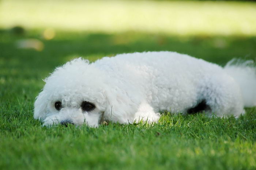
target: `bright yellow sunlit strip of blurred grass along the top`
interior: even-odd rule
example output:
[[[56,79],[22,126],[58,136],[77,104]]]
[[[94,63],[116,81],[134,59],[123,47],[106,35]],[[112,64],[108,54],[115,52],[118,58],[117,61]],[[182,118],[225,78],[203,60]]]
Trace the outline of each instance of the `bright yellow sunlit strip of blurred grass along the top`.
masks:
[[[2,0],[0,27],[116,33],[256,35],[256,3],[243,1]]]

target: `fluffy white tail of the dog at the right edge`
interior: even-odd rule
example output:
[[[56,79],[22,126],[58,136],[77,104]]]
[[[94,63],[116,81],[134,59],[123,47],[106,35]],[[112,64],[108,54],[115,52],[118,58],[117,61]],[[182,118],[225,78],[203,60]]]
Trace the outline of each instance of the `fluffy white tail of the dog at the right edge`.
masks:
[[[240,85],[244,106],[256,106],[256,67],[252,60],[229,61],[224,70]]]

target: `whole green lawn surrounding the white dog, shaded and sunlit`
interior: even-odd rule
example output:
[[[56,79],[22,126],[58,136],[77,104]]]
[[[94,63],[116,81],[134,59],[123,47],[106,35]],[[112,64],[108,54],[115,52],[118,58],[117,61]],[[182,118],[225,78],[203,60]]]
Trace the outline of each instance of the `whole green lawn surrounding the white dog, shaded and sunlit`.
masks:
[[[238,119],[164,112],[152,126],[46,128],[33,119],[42,79],[75,57],[169,50],[220,65],[255,60],[256,3],[59,2],[0,1],[0,169],[256,169],[256,108]]]

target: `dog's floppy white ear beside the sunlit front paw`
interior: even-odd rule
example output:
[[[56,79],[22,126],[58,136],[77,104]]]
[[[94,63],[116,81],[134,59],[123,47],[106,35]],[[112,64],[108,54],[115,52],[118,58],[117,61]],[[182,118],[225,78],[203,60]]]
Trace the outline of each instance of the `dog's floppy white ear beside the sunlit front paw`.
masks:
[[[136,95],[132,95],[131,98],[127,91],[121,90],[117,86],[108,89],[110,90],[105,91],[107,107],[104,118],[121,124],[132,123],[138,110],[140,99],[136,98]]]

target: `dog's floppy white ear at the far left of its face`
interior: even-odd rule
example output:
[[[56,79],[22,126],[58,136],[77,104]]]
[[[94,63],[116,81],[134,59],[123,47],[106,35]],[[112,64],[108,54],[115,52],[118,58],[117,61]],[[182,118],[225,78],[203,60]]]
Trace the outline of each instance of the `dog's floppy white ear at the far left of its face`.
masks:
[[[34,118],[44,120],[46,118],[47,98],[44,91],[35,98]]]

